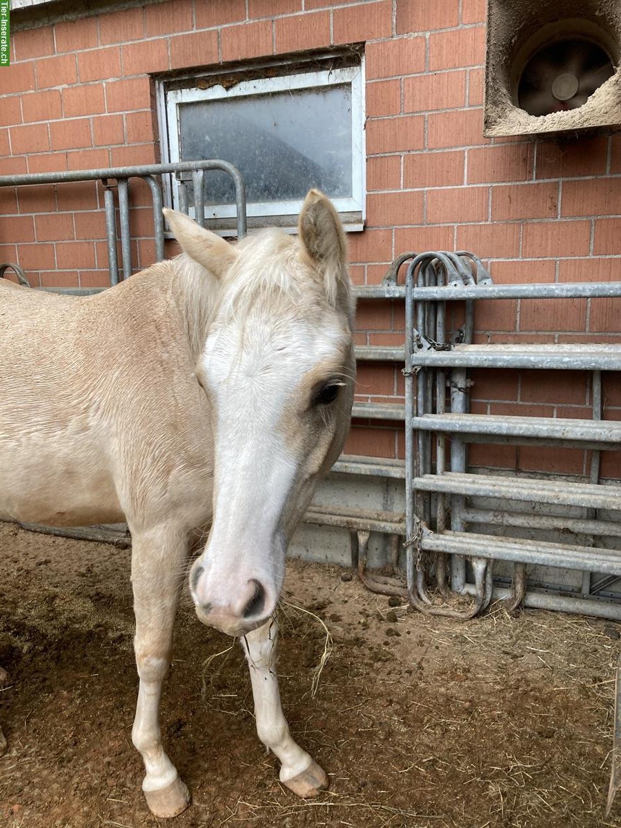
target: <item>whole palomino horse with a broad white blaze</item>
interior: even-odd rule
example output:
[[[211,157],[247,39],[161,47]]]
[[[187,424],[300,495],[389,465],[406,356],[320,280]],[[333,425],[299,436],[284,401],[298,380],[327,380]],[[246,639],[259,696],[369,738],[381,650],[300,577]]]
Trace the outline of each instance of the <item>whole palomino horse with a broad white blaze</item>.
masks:
[[[344,232],[311,190],[299,238],[236,246],[166,210],[184,253],[98,296],[0,285],[0,516],[125,519],[140,677],[132,741],[156,816],[185,784],[161,744],[161,683],[190,537],[201,621],[243,639],[259,739],[301,797],[327,784],[282,714],[274,612],[291,534],[349,427],[354,302]],[[25,347],[26,345],[26,347]]]

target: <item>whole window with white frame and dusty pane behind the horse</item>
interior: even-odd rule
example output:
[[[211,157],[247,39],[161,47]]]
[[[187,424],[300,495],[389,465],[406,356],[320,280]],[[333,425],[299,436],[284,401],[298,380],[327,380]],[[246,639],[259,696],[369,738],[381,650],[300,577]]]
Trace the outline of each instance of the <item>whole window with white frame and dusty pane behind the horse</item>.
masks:
[[[248,79],[248,72],[162,84],[168,159],[220,158],[238,167],[246,185],[248,227],[295,228],[311,187],[333,200],[347,229],[363,228],[363,67],[315,61],[310,70],[289,65]],[[281,71],[283,67],[280,67]],[[187,183],[194,203],[191,181]],[[171,182],[179,207],[179,187]],[[190,215],[194,217],[194,207]],[[233,181],[205,173],[205,222],[234,227]]]

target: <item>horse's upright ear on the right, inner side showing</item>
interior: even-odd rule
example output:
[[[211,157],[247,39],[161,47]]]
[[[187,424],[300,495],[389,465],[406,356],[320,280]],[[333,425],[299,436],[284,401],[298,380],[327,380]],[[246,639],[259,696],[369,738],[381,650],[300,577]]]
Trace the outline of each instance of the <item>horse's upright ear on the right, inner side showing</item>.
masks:
[[[347,242],[339,214],[319,190],[310,190],[302,205],[298,233],[302,247],[323,275],[330,305],[345,288],[349,295]]]

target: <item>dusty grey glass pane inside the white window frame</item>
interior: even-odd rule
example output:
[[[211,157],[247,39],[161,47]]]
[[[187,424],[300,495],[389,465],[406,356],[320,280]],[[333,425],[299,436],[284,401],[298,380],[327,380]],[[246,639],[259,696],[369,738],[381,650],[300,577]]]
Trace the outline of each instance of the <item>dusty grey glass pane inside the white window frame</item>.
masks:
[[[352,195],[351,84],[183,103],[179,124],[181,161],[230,161],[250,203]],[[205,204],[233,203],[230,177],[209,174]]]

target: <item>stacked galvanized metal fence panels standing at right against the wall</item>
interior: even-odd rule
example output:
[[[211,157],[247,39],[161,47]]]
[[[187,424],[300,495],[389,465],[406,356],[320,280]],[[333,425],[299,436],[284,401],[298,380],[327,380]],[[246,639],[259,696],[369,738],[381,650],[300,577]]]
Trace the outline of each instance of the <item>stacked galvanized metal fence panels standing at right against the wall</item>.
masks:
[[[621,422],[602,420],[601,397],[601,372],[621,371],[621,346],[472,344],[474,301],[619,297],[621,282],[493,285],[479,267],[474,278],[463,272],[462,254],[410,254],[402,261],[408,258],[404,373],[410,601],[424,612],[460,618],[474,616],[496,597],[508,599],[512,607],[523,602],[621,619],[621,549],[615,541],[621,537],[621,486],[599,481],[601,451],[621,449]],[[446,330],[447,301],[465,303],[465,325],[453,339]],[[469,368],[590,371],[592,420],[471,414]],[[590,479],[474,474],[467,462],[470,443],[590,449]],[[476,532],[469,531],[472,526]],[[535,537],[519,537],[523,529]],[[536,537],[544,531],[561,532],[563,542]],[[493,561],[513,565],[510,589],[493,586]],[[580,590],[558,583],[529,586],[526,566],[578,570]],[[450,570],[453,592],[473,595],[474,602],[457,608],[432,597],[430,570],[437,594],[448,597]]]

